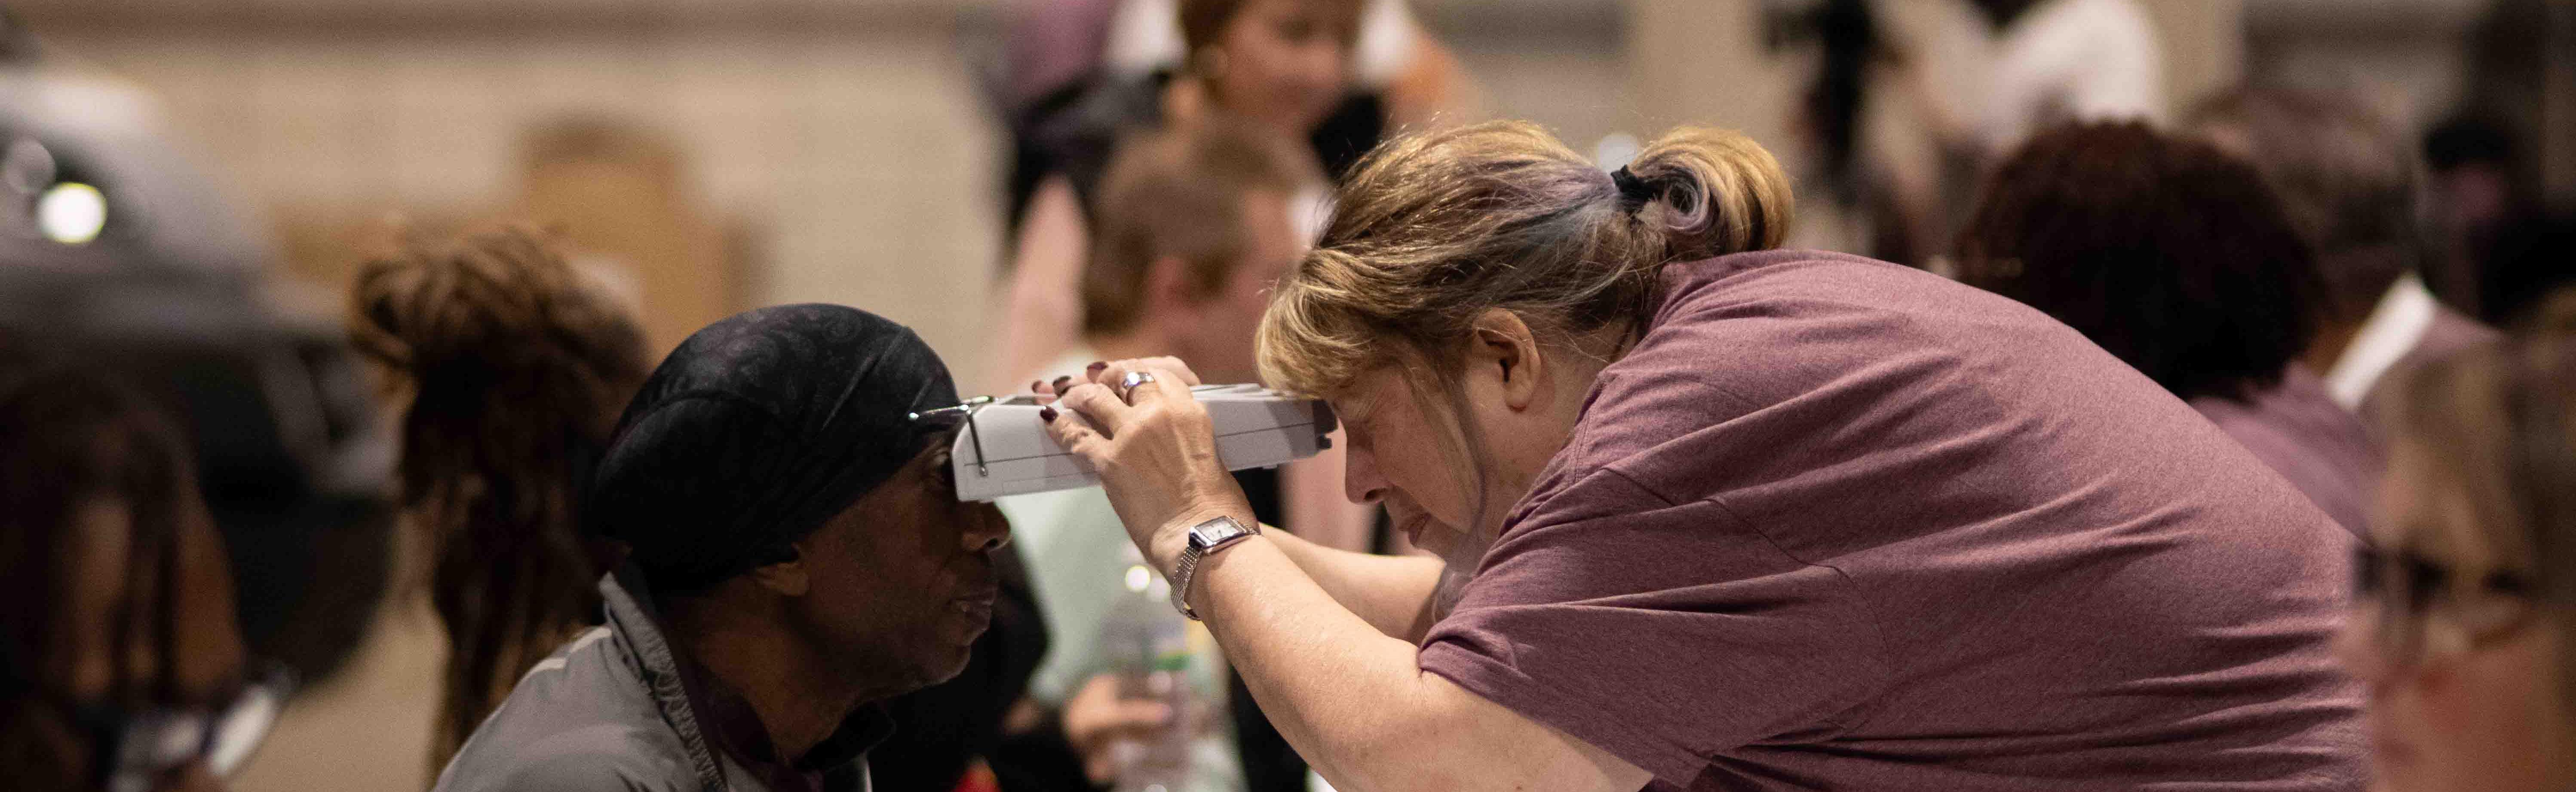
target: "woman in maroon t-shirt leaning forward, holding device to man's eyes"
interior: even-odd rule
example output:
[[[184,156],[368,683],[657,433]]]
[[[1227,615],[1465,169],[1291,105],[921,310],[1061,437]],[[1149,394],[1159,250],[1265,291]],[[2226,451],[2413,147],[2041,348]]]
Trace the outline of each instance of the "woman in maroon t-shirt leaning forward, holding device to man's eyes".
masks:
[[[2048,316],[1770,252],[1736,134],[1396,141],[1262,324],[1432,558],[1249,525],[1177,360],[1048,427],[1342,789],[2360,789],[2349,535]],[[1200,537],[1193,543],[1193,530]]]

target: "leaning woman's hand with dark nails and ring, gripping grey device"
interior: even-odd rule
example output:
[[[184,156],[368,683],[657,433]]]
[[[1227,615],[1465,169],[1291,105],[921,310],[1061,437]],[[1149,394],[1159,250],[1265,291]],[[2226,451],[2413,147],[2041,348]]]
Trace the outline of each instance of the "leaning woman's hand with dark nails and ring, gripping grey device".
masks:
[[[1149,381],[1126,388],[1128,373]],[[1190,396],[1198,375],[1175,357],[1095,363],[1090,381],[1059,381],[1046,432],[1100,473],[1128,537],[1170,573],[1190,525],[1234,517],[1252,525],[1242,486],[1216,460],[1216,427]]]

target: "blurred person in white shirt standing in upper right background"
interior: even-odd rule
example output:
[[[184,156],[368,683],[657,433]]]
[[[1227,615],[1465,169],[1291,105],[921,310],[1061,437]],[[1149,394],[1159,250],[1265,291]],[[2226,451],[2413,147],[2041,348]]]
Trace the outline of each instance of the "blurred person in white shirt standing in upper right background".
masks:
[[[2133,0],[1821,0],[1775,8],[1770,41],[1814,54],[1790,129],[1819,190],[1793,234],[1942,273],[1978,177],[2032,131],[2166,116]]]

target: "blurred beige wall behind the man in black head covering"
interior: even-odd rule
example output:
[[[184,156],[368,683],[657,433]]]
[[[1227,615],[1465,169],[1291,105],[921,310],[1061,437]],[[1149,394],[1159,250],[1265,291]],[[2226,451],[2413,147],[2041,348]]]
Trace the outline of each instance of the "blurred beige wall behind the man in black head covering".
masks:
[[[677,139],[708,208],[760,234],[752,303],[853,303],[912,324],[958,370],[984,360],[999,141],[953,15],[572,15],[526,31],[33,18],[67,59],[155,90],[268,221],[500,206],[528,126],[608,113]]]

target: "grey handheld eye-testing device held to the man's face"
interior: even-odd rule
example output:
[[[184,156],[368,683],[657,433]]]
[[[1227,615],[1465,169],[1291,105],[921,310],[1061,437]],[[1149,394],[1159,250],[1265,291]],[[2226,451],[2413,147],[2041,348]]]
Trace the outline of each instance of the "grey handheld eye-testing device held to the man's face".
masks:
[[[1262,386],[1195,386],[1190,393],[1216,424],[1216,460],[1226,471],[1275,468],[1332,447],[1324,435],[1332,435],[1334,419],[1324,401]],[[1046,435],[1036,396],[976,396],[953,409],[966,414],[948,447],[961,501],[1100,483],[1090,463]]]

